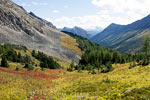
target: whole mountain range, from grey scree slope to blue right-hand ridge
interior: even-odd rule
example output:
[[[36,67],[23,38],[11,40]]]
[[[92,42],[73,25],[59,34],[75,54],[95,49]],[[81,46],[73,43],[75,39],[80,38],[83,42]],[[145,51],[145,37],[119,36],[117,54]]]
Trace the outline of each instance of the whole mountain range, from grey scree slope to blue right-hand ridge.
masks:
[[[112,23],[102,32],[98,34],[95,32],[94,37],[91,35],[91,30],[77,26],[64,27],[61,31],[82,36],[112,50],[126,53],[139,52],[143,38],[150,34],[150,15],[128,25]],[[33,12],[27,13],[23,7],[11,0],[0,1],[0,43],[24,45],[67,62],[78,62],[80,54],[70,48],[72,47],[70,39],[75,42],[51,22],[38,17]],[[80,51],[77,44],[73,48]]]

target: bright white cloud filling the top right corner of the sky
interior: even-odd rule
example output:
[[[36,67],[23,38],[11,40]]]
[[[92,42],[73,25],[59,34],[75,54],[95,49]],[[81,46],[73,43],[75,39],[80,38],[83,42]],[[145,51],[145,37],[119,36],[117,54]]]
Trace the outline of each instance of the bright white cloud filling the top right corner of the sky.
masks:
[[[92,4],[99,7],[99,15],[120,17],[113,22],[128,24],[150,13],[150,0],[91,0]]]

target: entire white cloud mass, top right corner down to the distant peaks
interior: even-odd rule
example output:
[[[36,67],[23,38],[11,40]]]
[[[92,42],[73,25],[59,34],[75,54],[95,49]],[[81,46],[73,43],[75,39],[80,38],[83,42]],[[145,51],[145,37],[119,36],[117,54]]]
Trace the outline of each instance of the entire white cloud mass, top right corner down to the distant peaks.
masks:
[[[91,0],[99,8],[93,15],[60,17],[53,20],[57,27],[79,26],[86,29],[105,28],[111,23],[129,24],[150,13],[150,0]]]

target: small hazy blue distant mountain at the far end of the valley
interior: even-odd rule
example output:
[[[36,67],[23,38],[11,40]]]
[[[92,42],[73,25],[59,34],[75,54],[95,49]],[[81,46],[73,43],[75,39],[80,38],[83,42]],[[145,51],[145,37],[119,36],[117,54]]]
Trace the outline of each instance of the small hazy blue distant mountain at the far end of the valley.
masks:
[[[66,31],[66,32],[71,32],[73,34],[82,36],[84,38],[89,39],[91,37],[90,34],[88,34],[88,32],[80,27],[73,27],[73,28],[68,28],[68,27],[64,27],[61,31]]]

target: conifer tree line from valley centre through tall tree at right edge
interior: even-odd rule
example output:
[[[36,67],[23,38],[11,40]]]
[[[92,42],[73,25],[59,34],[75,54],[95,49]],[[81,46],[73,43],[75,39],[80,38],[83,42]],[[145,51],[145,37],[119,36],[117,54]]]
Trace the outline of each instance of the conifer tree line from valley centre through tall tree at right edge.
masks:
[[[70,32],[65,33],[74,37],[79,44],[78,47],[84,51],[79,64],[75,66],[72,62],[68,68],[69,71],[88,70],[91,72],[94,69],[98,69],[100,73],[106,73],[113,70],[112,64],[124,64],[129,62],[138,62],[138,64],[141,65],[150,64],[149,36],[146,36],[143,41],[141,53],[127,54],[112,51]]]

